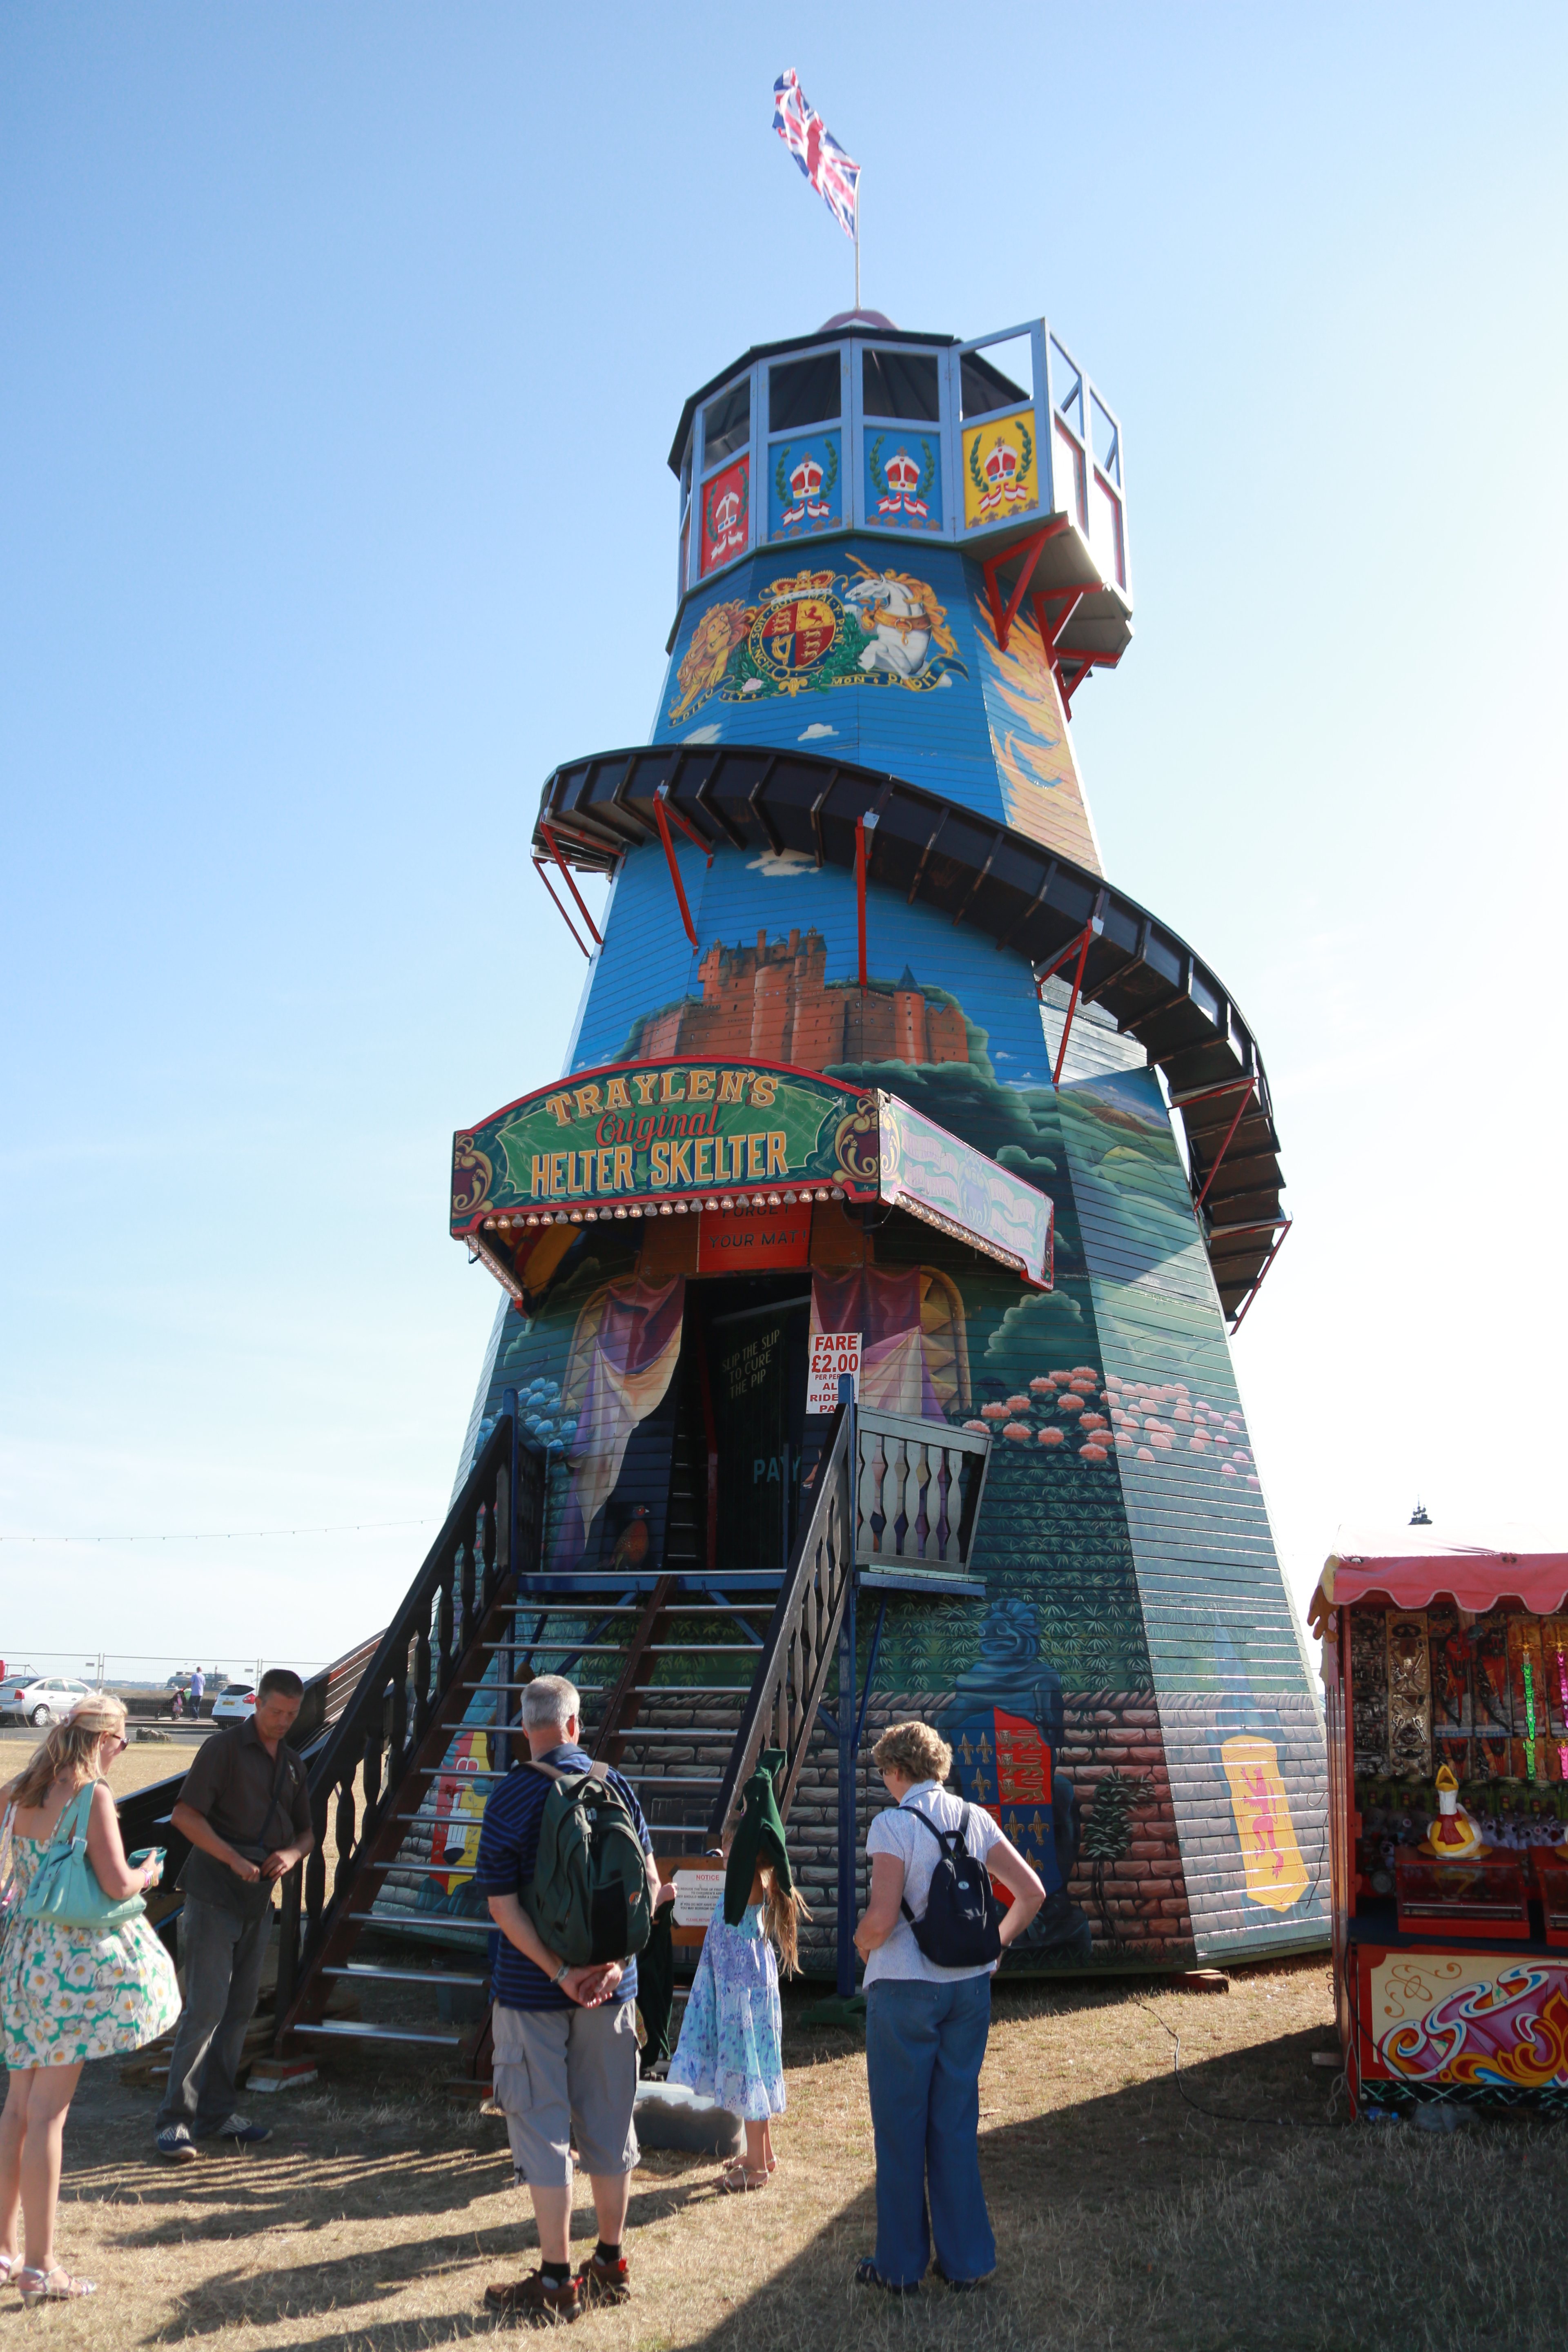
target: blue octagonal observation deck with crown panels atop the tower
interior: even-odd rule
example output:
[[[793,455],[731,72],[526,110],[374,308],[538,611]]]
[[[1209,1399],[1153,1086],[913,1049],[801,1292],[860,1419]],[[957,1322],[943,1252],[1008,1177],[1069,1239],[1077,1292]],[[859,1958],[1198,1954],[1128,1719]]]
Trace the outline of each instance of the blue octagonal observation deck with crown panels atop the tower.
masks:
[[[1131,640],[1121,426],[1046,320],[961,343],[851,310],[759,343],[686,400],[670,470],[675,628],[748,555],[856,532],[959,546],[1004,642],[1027,597],[1067,699]]]

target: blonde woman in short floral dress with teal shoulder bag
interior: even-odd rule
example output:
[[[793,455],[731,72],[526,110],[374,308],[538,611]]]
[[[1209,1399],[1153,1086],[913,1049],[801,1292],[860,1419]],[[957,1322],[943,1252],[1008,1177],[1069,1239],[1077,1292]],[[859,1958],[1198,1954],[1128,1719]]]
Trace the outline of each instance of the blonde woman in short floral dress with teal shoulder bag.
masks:
[[[14,2279],[24,2303],[94,2291],[54,2260],[61,2138],[82,2065],[139,2051],[179,2018],[174,1964],[146,1919],[92,1929],[16,1917],[68,1806],[87,1825],[87,1860],[110,1903],[158,1886],[155,1860],[127,1863],[103,1778],[122,1748],[125,1708],[96,1693],[0,1790],[0,2049],[9,2072],[0,2114],[0,2281]],[[19,2213],[26,2267],[16,2263]]]

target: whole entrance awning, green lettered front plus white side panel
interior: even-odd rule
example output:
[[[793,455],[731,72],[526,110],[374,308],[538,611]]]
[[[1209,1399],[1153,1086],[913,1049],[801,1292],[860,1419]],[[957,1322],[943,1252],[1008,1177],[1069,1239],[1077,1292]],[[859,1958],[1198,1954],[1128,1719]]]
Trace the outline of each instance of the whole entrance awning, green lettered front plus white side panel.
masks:
[[[541,1087],[451,1141],[451,1232],[886,1202],[1051,1289],[1053,1207],[922,1117],[776,1061],[646,1061]],[[508,1284],[510,1289],[510,1284]]]

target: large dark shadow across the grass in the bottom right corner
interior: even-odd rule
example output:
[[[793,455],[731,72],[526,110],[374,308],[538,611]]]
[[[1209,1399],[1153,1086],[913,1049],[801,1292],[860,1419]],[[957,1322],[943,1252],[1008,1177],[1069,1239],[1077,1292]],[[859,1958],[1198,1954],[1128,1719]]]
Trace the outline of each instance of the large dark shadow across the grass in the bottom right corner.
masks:
[[[1331,2124],[1321,2032],[980,2136],[997,2274],[853,2286],[875,2192],[686,2352],[1561,2352],[1566,2126]],[[1284,2129],[1218,2122],[1291,2117]]]

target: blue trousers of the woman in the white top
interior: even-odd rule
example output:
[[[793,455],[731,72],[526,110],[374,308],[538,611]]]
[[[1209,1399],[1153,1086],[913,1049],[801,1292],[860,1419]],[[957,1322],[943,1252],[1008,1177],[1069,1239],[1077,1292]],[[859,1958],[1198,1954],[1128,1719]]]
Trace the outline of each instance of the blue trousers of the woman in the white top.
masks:
[[[959,1976],[950,1985],[882,1978],[865,1994],[877,2133],[872,2260],[889,2286],[924,2279],[931,2239],[947,2279],[983,2279],[997,2267],[978,2150],[990,2018],[990,1976]]]

